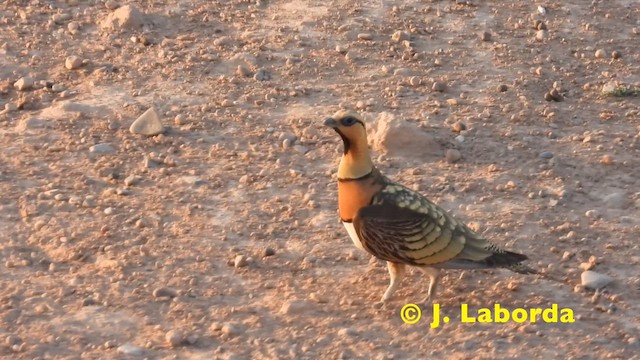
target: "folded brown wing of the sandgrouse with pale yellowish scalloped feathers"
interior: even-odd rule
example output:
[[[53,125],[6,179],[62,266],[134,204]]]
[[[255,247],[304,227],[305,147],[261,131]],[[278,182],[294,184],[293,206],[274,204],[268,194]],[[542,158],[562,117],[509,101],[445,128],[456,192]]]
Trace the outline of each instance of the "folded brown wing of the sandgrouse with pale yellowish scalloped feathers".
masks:
[[[387,186],[358,210],[353,225],[366,250],[382,260],[446,268],[512,267],[527,259],[479,238],[419,194]]]

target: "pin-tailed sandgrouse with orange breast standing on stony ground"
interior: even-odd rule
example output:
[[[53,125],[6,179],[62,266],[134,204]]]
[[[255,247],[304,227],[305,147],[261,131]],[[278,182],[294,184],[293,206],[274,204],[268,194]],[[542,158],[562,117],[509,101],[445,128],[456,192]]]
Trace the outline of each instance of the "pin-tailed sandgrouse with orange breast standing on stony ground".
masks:
[[[382,301],[398,288],[407,265],[429,276],[426,303],[435,298],[440,269],[534,272],[521,264],[527,256],[479,237],[436,204],[382,175],[371,161],[360,115],[339,111],[324,124],[344,143],[338,168],[342,223],[358,248],[387,262],[391,281]]]

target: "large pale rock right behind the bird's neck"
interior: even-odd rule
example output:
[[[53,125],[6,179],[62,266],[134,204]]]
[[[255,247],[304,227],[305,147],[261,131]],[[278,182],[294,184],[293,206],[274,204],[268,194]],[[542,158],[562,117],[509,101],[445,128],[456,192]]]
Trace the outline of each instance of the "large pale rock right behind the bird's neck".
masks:
[[[440,145],[415,124],[396,119],[393,114],[381,113],[370,131],[373,149],[387,156],[406,158],[440,157]]]

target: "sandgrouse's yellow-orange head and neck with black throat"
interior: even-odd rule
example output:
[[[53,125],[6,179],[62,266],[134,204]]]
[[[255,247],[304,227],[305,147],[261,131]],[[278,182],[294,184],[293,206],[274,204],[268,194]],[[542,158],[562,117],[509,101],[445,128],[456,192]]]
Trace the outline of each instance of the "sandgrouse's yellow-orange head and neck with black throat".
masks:
[[[335,130],[344,145],[338,168],[339,179],[357,179],[373,170],[367,130],[362,116],[353,111],[340,110],[324,120],[324,125]]]

